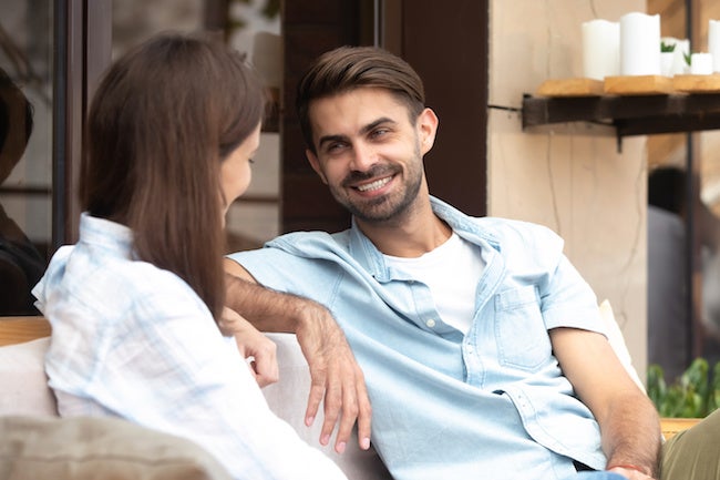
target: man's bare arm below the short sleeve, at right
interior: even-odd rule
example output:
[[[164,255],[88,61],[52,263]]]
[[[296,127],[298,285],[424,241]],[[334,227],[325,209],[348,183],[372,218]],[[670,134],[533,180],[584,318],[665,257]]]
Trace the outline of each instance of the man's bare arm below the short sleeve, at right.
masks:
[[[600,426],[608,470],[631,480],[655,478],[661,442],[658,413],[607,339],[593,331],[555,328],[551,340],[563,372]]]

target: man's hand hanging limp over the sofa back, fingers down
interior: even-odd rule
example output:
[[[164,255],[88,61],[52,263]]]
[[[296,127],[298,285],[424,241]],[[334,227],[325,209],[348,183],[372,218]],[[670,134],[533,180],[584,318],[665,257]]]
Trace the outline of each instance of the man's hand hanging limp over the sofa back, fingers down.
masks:
[[[367,450],[370,448],[372,408],[362,370],[330,313],[317,304],[308,304],[304,312],[305,320],[298,324],[296,336],[311,377],[305,422],[312,425],[325,398],[320,443],[328,445],[335,425],[339,423],[335,450],[342,453],[357,419],[358,443]]]

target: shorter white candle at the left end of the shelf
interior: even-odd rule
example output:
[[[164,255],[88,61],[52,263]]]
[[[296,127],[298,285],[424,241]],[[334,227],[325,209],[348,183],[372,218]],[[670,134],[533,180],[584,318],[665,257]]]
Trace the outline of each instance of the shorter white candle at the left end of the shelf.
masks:
[[[603,80],[620,71],[620,24],[596,19],[583,23],[583,75]]]

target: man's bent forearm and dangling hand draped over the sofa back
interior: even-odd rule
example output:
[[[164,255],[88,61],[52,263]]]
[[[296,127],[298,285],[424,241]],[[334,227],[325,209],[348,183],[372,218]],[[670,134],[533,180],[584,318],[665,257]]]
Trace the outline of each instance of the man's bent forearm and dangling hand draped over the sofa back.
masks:
[[[255,278],[234,261],[225,259],[225,270],[226,304],[232,309],[259,330],[296,334],[311,377],[306,425],[312,425],[325,397],[320,443],[328,445],[339,421],[335,449],[341,453],[357,419],[360,448],[370,448],[372,411],[364,377],[330,312],[307,298],[257,285]]]

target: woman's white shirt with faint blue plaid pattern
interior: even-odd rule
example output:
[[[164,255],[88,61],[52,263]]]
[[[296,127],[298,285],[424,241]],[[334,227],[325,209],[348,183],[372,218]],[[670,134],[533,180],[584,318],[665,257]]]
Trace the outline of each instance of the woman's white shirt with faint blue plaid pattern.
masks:
[[[237,479],[343,479],[268,408],[178,276],[133,258],[132,232],[83,214],[80,242],[33,289],[52,324],[45,369],[62,416],[112,416],[186,437]]]

